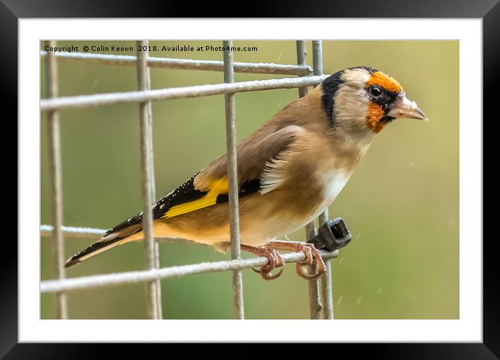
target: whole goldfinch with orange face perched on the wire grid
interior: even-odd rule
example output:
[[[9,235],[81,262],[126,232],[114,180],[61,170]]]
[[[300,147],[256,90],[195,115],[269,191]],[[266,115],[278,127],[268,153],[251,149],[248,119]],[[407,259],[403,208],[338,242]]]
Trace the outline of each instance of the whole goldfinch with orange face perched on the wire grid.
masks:
[[[320,249],[277,240],[304,227],[335,200],[374,137],[398,118],[427,121],[399,82],[376,68],[355,66],[326,77],[237,144],[242,250],[267,257],[256,270],[281,275],[280,250],[304,252],[299,276],[325,273]],[[154,237],[182,238],[224,252],[230,246],[228,158],[223,154],[152,205]],[[144,239],[142,213],[112,227],[68,258],[71,267],[105,250]],[[316,273],[302,269],[316,264]],[[281,268],[272,275],[274,269]]]

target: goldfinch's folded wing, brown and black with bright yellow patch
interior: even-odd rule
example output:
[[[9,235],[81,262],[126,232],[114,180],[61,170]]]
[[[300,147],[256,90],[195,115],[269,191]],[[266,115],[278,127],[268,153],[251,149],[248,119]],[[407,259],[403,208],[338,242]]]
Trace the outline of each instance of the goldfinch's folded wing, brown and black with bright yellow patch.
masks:
[[[261,128],[237,146],[238,193],[240,197],[256,193],[258,190],[272,190],[274,160],[289,147],[302,131],[300,126],[286,126],[273,131]],[[271,165],[271,166],[270,166]],[[263,183],[261,183],[261,177]],[[271,184],[271,185],[270,185]],[[276,181],[274,182],[276,185]],[[172,218],[215,204],[228,202],[229,181],[227,176],[227,156],[219,156],[204,170],[191,177],[181,186],[153,206],[154,219]],[[129,218],[108,230],[109,234],[128,236],[128,229],[142,223],[142,213]],[[139,229],[140,230],[140,229]],[[134,230],[137,232],[139,230]],[[132,232],[132,233],[133,233]]]

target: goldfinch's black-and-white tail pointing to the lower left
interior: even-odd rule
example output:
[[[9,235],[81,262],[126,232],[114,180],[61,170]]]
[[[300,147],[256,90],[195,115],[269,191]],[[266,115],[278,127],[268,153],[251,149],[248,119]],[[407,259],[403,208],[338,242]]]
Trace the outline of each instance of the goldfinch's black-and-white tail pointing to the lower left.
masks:
[[[71,256],[68,260],[66,260],[66,264],[64,264],[64,267],[72,267],[73,265],[87,260],[90,257],[103,253],[106,250],[110,250],[110,248],[122,245],[122,243],[128,242],[128,237],[130,237],[132,234],[140,232],[140,230],[142,230],[142,226],[138,224],[126,227],[125,229],[121,229],[117,232],[110,232],[109,234],[105,234],[103,237],[101,237],[101,239],[98,239],[98,241],[96,241],[95,243],[91,243],[89,246],[87,246],[87,248],[84,248],[83,250],[79,251],[75,255]]]

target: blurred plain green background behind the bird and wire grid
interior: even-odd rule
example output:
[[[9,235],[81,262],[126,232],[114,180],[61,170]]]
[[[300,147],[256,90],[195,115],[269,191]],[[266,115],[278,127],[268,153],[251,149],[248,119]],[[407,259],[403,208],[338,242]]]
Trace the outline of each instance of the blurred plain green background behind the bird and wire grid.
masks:
[[[126,41],[59,41],[58,45],[127,45]],[[151,45],[221,45],[221,41],[152,41]],[[235,61],[296,63],[294,41],[235,41],[257,52]],[[307,62],[312,63],[311,42]],[[112,52],[108,52],[112,53]],[[133,52],[116,52],[133,55]],[[152,52],[152,57],[221,60],[222,52]],[[43,70],[43,60],[41,66]],[[458,41],[323,41],[325,74],[372,66],[395,77],[428,123],[399,119],[374,140],[330,207],[353,241],[333,264],[337,319],[457,319],[459,317],[459,43]],[[152,88],[223,82],[212,71],[151,69]],[[284,75],[235,74],[235,81]],[[61,96],[133,91],[133,66],[61,62]],[[41,96],[45,77],[41,71]],[[241,140],[297,98],[297,89],[238,93]],[[223,96],[162,100],[152,105],[156,194],[161,197],[225,152]],[[50,224],[47,126],[41,116],[41,223]],[[61,112],[64,224],[107,229],[141,211],[138,106],[107,105]],[[304,230],[289,235],[303,240]],[[90,239],[66,239],[72,255]],[[161,267],[227,260],[207,246],[160,245]],[[248,257],[249,255],[244,255]],[[250,255],[251,256],[251,255]],[[41,280],[54,277],[50,239],[41,239]],[[67,276],[145,268],[144,246],[129,243],[68,269]],[[248,319],[307,319],[307,281],[286,265],[266,282],[244,270]],[[231,273],[161,281],[166,319],[231,319]],[[119,285],[68,294],[74,319],[142,319],[145,285]],[[54,296],[41,295],[41,317],[54,317]]]

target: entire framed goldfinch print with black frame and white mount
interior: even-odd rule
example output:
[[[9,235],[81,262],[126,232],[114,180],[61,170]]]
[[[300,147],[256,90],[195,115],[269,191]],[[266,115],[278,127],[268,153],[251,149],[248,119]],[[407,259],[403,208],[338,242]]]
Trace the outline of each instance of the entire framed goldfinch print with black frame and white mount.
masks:
[[[4,3],[7,358],[67,356],[59,342],[499,354],[482,210],[494,1],[293,20]]]

